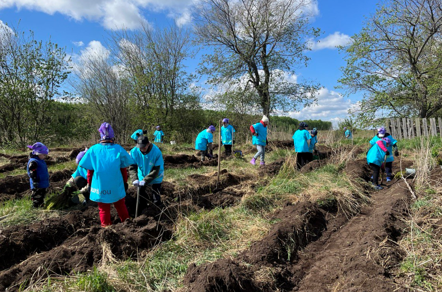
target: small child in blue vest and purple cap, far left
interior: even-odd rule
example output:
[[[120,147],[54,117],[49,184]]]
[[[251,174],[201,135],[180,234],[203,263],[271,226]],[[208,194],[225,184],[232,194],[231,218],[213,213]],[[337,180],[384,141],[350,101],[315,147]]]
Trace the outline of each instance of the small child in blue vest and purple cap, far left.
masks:
[[[31,185],[31,200],[34,208],[41,207],[44,203],[47,188],[49,188],[48,166],[44,159],[49,154],[49,149],[43,143],[37,142],[34,145],[28,145],[32,149],[29,154],[27,172]]]

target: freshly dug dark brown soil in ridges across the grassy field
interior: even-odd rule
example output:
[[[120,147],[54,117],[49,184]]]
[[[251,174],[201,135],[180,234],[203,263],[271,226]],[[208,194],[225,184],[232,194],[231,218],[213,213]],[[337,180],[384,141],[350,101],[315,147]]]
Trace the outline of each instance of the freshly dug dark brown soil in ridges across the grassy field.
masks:
[[[60,151],[53,154],[53,159],[75,159],[81,150]],[[321,152],[322,159],[332,155],[328,148]],[[11,163],[22,159],[8,158]],[[165,155],[164,160],[166,168],[204,164],[194,155]],[[276,175],[284,161],[259,167],[260,177]],[[323,163],[314,161],[303,171]],[[354,179],[368,180],[370,176],[362,160],[350,163],[346,171]],[[51,188],[62,188],[71,173],[72,170],[52,173]],[[190,175],[184,187],[164,182],[163,206],[149,204],[138,218],[124,223],[119,222],[112,208],[114,225],[108,228],[99,226],[98,208],[90,202],[63,217],[0,229],[0,291],[18,291],[20,286],[51,275],[86,272],[108,260],[110,253],[117,260],[136,260],[144,251],[171,238],[180,213],[234,205],[245,195],[242,190],[256,180],[253,175],[237,176],[222,170],[217,189],[216,177],[216,172]],[[442,171],[435,173],[434,179],[442,180]],[[29,195],[28,188],[27,175],[1,179],[0,201]],[[393,181],[387,189],[373,193],[374,203],[350,219],[336,213],[336,209],[320,208],[311,202],[287,204],[270,214],[279,221],[248,251],[233,259],[190,266],[185,288],[195,292],[392,291],[396,287],[389,269],[401,258],[392,242],[402,236],[403,226],[397,218],[404,214],[409,197],[403,182]],[[133,187],[128,190],[126,205],[134,217]],[[270,271],[271,277],[262,277],[263,271]]]

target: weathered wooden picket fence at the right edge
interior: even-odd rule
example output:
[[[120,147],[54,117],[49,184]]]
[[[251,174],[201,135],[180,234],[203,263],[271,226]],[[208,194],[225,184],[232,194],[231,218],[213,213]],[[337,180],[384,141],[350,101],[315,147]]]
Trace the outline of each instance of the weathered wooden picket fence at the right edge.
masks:
[[[411,139],[421,136],[442,138],[442,118],[387,118],[385,126],[395,139]]]

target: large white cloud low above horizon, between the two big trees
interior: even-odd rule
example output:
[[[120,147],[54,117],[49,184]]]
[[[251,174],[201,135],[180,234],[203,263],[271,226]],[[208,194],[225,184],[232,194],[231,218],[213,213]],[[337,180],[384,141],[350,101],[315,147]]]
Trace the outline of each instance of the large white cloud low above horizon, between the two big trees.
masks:
[[[290,112],[288,115],[299,120],[321,119],[338,121],[339,118],[348,115],[348,110],[353,106],[350,99],[343,97],[340,93],[322,88],[316,92],[318,101],[310,107],[302,108],[297,112]]]

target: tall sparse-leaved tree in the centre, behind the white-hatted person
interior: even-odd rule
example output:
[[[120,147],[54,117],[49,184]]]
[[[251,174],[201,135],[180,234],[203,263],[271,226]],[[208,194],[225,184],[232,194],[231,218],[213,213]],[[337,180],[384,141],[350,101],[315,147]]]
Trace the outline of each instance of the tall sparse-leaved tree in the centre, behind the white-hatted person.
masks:
[[[287,81],[306,65],[312,0],[200,0],[195,5],[197,42],[213,51],[199,72],[212,85],[253,88],[264,114],[296,110],[311,102],[318,86]]]

